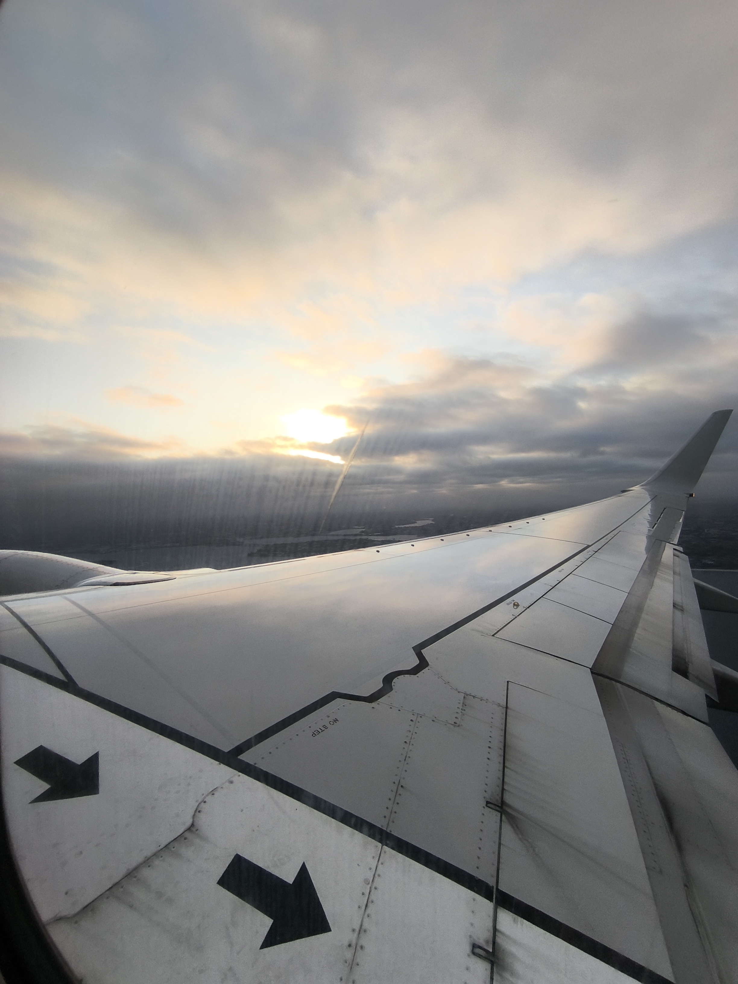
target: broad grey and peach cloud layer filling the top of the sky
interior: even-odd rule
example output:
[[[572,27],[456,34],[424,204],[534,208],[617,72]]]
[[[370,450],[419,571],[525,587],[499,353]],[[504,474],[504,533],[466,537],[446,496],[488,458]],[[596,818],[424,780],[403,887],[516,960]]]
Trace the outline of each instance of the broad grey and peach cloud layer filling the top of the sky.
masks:
[[[379,336],[384,308],[735,217],[730,5],[461,8],[190,0],[174,32],[167,4],[4,11],[25,262],[72,305],[94,281],[126,313],[266,314],[310,339],[349,296],[342,337]]]

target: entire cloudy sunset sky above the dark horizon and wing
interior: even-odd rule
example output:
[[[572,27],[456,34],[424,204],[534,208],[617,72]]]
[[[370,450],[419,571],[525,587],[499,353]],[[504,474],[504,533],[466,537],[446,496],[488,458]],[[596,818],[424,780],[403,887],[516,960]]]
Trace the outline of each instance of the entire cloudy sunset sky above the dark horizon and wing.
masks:
[[[717,0],[5,0],[0,455],[330,489],[366,428],[387,481],[645,478],[738,402],[737,38]],[[737,469],[738,420],[707,493]]]

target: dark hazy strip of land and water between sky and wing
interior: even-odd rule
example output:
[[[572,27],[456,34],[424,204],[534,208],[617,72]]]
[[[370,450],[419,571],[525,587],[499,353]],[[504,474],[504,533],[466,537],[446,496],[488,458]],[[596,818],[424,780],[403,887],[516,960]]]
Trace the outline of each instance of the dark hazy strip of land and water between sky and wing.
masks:
[[[450,486],[444,474],[418,483],[397,469],[359,466],[333,499],[339,469],[277,463],[6,460],[0,548],[126,569],[238,567],[511,522],[624,487],[613,475],[597,484]],[[702,484],[680,543],[693,567],[738,568],[738,503]],[[601,495],[588,494],[595,487]]]

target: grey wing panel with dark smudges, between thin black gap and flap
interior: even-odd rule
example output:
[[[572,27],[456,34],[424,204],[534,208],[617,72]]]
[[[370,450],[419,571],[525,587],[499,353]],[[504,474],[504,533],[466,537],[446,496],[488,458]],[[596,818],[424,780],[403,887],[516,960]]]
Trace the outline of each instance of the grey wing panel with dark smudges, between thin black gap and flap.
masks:
[[[511,683],[500,889],[669,977],[671,964],[607,728]]]

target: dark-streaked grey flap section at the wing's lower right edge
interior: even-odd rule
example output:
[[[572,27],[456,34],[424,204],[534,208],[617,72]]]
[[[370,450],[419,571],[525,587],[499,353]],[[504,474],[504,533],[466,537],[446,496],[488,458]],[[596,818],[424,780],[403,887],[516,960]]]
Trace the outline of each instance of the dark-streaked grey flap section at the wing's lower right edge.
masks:
[[[678,984],[735,979],[738,774],[709,728],[596,679]]]

